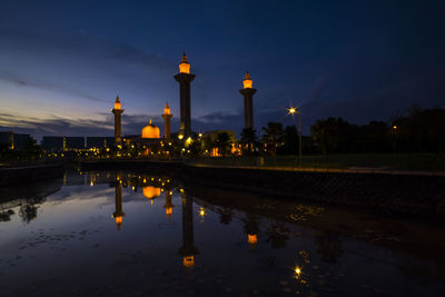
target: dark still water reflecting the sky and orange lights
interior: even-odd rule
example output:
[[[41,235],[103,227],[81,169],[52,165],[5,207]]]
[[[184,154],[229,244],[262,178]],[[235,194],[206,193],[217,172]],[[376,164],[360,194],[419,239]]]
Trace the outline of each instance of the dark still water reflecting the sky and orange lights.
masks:
[[[330,207],[122,171],[0,196],[3,297],[445,296],[442,259]]]

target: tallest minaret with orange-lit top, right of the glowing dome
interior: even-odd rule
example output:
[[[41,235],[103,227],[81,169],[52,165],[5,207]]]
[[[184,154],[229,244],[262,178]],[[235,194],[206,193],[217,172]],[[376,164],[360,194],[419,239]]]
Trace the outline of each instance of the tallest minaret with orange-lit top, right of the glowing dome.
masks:
[[[180,126],[179,133],[187,139],[191,136],[190,122],[190,82],[195,79],[195,75],[190,73],[190,63],[187,60],[186,53],[179,63],[179,73],[175,76],[176,81],[179,82],[179,97],[180,97]]]

